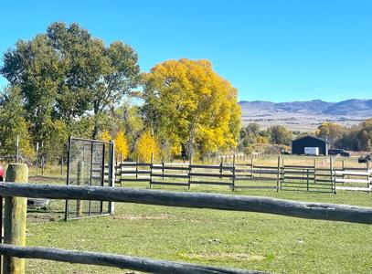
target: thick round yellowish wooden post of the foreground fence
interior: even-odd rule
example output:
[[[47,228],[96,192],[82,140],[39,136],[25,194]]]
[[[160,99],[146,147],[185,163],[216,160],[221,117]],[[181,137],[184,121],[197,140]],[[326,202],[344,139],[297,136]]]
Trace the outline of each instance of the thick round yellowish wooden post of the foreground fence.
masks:
[[[6,170],[6,181],[28,182],[26,163],[11,163]],[[27,198],[5,197],[4,243],[26,246]],[[23,274],[26,269],[25,258],[4,256],[4,274]]]

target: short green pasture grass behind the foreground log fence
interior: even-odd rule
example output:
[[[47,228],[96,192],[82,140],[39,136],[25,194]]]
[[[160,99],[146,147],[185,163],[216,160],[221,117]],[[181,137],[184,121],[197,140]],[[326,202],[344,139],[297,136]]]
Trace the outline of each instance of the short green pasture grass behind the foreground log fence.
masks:
[[[143,184],[147,187],[148,184]],[[133,185],[132,185],[133,186]],[[186,191],[171,186],[154,187]],[[262,195],[372,206],[371,195],[247,191],[193,186],[191,191]],[[59,207],[60,201],[51,201]],[[372,226],[257,213],[115,204],[115,215],[46,222],[31,218],[27,245],[110,252],[274,273],[372,272]],[[41,216],[41,215],[40,215]],[[27,260],[27,273],[125,273],[121,269]]]

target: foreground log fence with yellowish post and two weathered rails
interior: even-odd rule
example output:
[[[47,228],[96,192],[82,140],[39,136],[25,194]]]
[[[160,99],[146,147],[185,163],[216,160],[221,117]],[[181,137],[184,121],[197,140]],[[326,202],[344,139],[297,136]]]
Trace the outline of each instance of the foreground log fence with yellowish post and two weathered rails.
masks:
[[[9,170],[13,170],[13,175],[8,177],[7,173],[7,179],[13,179],[13,181],[20,183],[19,180],[23,178],[27,165],[22,163],[13,164]],[[14,239],[19,235],[26,235],[26,218],[19,217],[26,215],[26,197],[211,208],[372,224],[372,208],[369,207],[295,202],[257,196],[181,193],[115,188],[112,186],[17,183],[0,183],[0,195],[9,199],[9,202],[5,203],[5,212],[9,212],[5,215],[5,224],[8,224],[5,226],[5,236],[7,237],[5,237],[5,244],[0,244],[0,254],[5,256],[5,274],[25,273],[24,267],[21,270],[19,268],[19,266],[25,266],[24,258],[42,258],[155,273],[260,273],[259,271],[224,269],[114,254],[22,247],[25,246],[25,242],[16,242]],[[16,229],[16,231],[13,231],[13,229]]]

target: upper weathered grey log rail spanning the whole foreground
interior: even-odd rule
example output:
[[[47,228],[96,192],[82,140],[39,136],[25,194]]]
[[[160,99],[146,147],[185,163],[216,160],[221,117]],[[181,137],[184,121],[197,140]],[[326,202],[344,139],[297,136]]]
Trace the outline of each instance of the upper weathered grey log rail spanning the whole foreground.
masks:
[[[372,224],[371,207],[296,202],[258,196],[181,193],[109,186],[16,183],[0,183],[0,195],[210,208]]]

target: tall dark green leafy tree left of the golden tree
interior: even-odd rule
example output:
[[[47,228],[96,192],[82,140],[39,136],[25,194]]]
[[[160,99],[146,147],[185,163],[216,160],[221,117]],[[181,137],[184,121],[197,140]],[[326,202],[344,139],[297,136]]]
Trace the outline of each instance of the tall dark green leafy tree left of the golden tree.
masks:
[[[53,23],[46,34],[16,43],[5,52],[1,73],[20,87],[37,139],[45,138],[51,121],[71,121],[92,111],[91,136],[100,121],[140,80],[138,57],[132,47],[90,36],[78,24]]]

